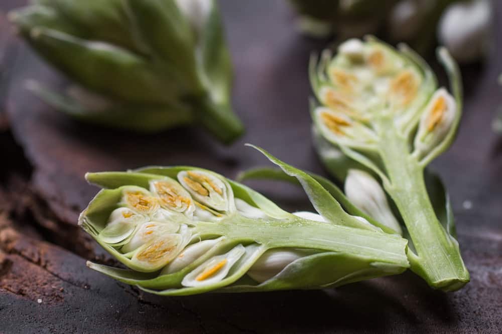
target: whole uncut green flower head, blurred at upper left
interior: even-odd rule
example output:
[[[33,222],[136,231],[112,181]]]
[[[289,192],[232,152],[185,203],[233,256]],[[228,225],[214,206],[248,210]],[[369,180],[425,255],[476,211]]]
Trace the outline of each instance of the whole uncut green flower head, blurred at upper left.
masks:
[[[212,0],[35,0],[9,18],[73,80],[63,94],[29,88],[76,119],[141,132],[200,123],[225,143],[243,131]]]

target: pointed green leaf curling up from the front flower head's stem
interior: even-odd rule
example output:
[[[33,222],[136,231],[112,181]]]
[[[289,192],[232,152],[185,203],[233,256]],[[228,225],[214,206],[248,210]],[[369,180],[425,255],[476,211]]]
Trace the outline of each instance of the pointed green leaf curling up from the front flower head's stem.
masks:
[[[331,194],[309,174],[286,164],[285,162],[272,156],[262,148],[250,144],[246,145],[262,152],[271,162],[278,165],[286,174],[296,177],[307,193],[307,196],[312,202],[314,208],[328,221],[338,225],[345,225],[363,229],[375,228],[374,226],[365,224],[357,220],[355,217],[347,214],[341,207],[340,203],[338,203],[333,198],[333,196],[331,196]]]

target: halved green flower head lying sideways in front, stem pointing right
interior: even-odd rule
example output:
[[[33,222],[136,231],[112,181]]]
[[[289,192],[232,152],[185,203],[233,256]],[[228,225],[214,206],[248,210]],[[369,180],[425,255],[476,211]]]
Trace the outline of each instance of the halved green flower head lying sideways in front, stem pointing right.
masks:
[[[360,211],[345,211],[314,178],[261,151],[298,179],[319,214],[288,213],[200,168],[89,173],[105,189],[79,224],[129,269],[88,266],[161,295],[339,286],[409,266],[406,239],[349,214]]]

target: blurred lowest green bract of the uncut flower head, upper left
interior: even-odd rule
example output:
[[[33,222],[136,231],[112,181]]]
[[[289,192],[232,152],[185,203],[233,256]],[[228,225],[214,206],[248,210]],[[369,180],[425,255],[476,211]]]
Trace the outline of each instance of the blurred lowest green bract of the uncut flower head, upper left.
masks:
[[[191,110],[181,104],[152,105],[117,101],[106,110],[89,111],[77,100],[60,95],[39,83],[30,82],[28,88],[45,103],[87,123],[150,133],[193,121]]]

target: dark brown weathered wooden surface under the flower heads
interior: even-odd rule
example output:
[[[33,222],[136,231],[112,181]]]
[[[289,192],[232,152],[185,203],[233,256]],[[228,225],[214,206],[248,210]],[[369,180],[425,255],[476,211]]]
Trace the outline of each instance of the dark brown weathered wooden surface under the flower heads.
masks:
[[[14,3],[9,0],[0,9]],[[323,43],[294,32],[293,16],[281,0],[221,5],[235,67],[234,107],[247,129],[230,147],[196,128],[132,136],[77,124],[24,89],[27,78],[59,79],[21,45],[9,118],[26,158],[7,132],[0,137],[2,152],[14,152],[1,169],[0,332],[499,331],[502,139],[490,131],[490,121],[502,101],[496,83],[502,71],[500,43],[484,67],[463,69],[466,106],[460,133],[433,164],[450,190],[471,273],[461,291],[431,290],[407,272],[322,291],[161,298],[85,267],[85,258],[102,256],[75,226],[97,190],[84,182],[87,171],[187,164],[233,177],[266,164],[243,147],[251,142],[323,173],[311,147],[306,70],[309,53]],[[502,29],[497,31],[500,42]],[[308,207],[295,188],[258,186],[286,208]],[[465,209],[464,201],[472,208]]]

